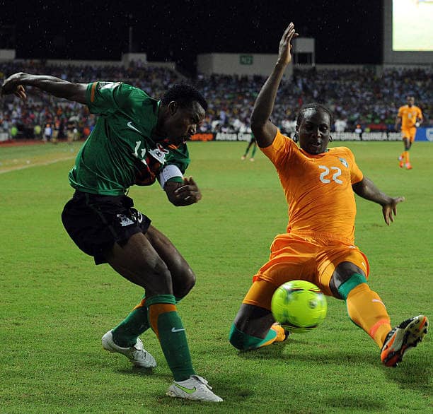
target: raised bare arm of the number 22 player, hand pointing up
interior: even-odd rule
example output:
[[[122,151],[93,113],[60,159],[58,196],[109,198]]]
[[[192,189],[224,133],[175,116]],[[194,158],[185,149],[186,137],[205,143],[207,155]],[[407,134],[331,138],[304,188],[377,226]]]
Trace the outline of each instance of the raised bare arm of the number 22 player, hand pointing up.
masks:
[[[294,24],[290,23],[279,41],[278,59],[275,68],[255,100],[253,113],[251,114],[251,130],[258,146],[262,148],[270,146],[277,134],[277,126],[270,122],[270,116],[274,109],[279,83],[281,83],[287,65],[291,62],[291,40],[297,35]]]

